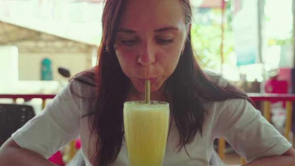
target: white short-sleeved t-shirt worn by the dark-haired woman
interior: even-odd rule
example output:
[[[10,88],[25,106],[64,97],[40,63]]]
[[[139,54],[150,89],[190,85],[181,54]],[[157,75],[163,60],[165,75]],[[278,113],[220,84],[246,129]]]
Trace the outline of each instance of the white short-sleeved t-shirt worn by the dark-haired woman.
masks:
[[[228,82],[222,77],[206,73],[219,85],[227,85]],[[89,158],[95,154],[96,140],[94,136],[90,137],[91,123],[88,123],[88,117],[82,118],[82,115],[85,115],[94,103],[94,99],[87,97],[92,96],[96,88],[75,80],[69,84],[78,95],[86,99],[73,94],[68,85],[40,115],[13,133],[12,138],[20,147],[31,149],[49,158],[70,140],[80,136],[86,166],[92,166]],[[213,140],[219,137],[224,137],[247,161],[262,156],[281,155],[292,147],[247,100],[207,102],[204,107],[208,114],[203,124],[203,135],[197,134],[193,142],[186,145],[190,157],[184,148],[178,152],[179,134],[175,123],[172,122],[163,166],[209,165]],[[124,142],[112,166],[129,166]]]

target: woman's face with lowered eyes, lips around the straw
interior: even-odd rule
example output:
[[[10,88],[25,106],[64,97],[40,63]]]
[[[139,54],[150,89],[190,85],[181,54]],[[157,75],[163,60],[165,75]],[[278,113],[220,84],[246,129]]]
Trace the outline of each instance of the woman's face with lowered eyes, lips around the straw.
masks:
[[[150,80],[158,90],[174,72],[188,28],[180,0],[128,0],[115,52],[125,75],[139,92]]]

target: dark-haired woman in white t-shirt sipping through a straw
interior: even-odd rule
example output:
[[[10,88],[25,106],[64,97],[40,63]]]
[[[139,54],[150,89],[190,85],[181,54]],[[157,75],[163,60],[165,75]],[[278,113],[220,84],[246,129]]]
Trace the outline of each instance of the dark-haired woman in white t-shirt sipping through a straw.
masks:
[[[163,166],[205,166],[213,140],[225,137],[248,166],[295,165],[292,145],[242,92],[204,73],[190,43],[188,0],[106,0],[98,66],[12,135],[0,150],[5,165],[52,166],[45,158],[80,135],[87,166],[129,166],[123,102],[171,105]]]

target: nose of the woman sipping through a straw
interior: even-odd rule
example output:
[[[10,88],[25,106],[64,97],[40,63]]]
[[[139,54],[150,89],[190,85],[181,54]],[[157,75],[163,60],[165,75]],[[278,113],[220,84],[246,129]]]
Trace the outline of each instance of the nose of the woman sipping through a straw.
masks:
[[[142,66],[150,66],[155,63],[155,47],[152,43],[146,43],[142,47],[137,62]]]

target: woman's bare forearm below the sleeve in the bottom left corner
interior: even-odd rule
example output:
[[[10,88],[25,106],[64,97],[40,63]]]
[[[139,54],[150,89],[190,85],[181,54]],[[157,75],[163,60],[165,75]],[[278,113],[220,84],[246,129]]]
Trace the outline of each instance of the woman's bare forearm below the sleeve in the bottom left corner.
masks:
[[[2,166],[57,166],[40,154],[19,147],[9,138],[0,147],[0,165]]]

